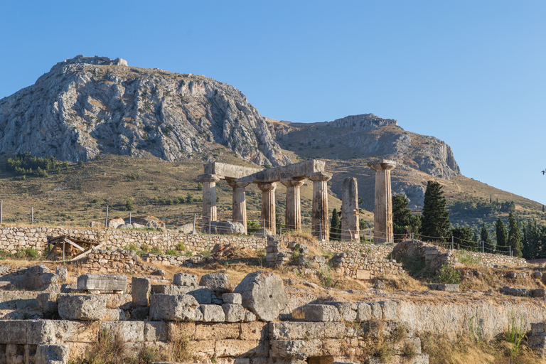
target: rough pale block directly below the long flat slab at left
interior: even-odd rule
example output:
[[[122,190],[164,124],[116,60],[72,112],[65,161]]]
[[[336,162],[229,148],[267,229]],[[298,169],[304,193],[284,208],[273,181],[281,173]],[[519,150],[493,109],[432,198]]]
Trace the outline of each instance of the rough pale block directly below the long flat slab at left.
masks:
[[[59,316],[65,320],[100,320],[106,314],[106,297],[63,294],[57,300]]]

